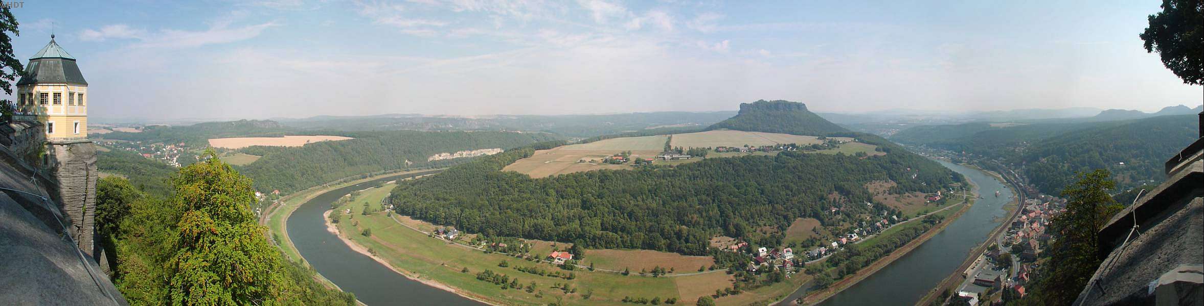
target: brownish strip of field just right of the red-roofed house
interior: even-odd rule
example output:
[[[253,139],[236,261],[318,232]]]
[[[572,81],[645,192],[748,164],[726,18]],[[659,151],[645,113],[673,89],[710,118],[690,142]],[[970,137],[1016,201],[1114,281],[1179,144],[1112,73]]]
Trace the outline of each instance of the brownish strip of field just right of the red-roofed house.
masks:
[[[650,250],[585,250],[585,258],[582,264],[592,263],[595,268],[622,271],[631,269],[632,274],[641,269],[651,271],[653,268],[661,266],[674,269],[674,272],[697,272],[698,266],[710,266],[715,259],[709,256],[684,256],[678,253],[657,252]],[[714,290],[712,290],[714,292]]]

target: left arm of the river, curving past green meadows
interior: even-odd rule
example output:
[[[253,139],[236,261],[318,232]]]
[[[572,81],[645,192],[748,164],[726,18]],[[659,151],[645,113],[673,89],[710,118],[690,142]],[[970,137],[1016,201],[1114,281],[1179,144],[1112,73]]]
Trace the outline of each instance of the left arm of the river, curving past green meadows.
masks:
[[[337,188],[301,204],[288,220],[289,239],[321,276],[346,292],[355,294],[364,304],[377,305],[482,305],[450,292],[406,278],[393,269],[353,251],[326,230],[323,214],[343,194],[379,186],[380,182],[411,178],[425,173],[388,176]]]

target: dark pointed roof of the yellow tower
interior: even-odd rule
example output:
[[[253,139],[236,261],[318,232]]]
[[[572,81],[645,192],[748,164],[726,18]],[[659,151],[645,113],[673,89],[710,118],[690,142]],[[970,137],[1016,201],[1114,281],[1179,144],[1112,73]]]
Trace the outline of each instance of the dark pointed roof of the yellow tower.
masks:
[[[17,85],[40,83],[88,85],[88,82],[83,79],[83,73],[79,72],[79,66],[76,65],[75,58],[71,58],[71,54],[64,50],[59,43],[54,42],[53,35],[51,35],[51,42],[46,47],[42,47],[33,58],[29,58],[29,65],[25,65],[25,73],[20,76]]]

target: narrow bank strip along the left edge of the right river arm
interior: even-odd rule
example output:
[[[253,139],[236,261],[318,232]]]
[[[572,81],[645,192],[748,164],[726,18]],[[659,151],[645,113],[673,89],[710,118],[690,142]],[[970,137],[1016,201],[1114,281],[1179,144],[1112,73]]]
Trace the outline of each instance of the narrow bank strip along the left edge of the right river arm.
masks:
[[[845,277],[844,280],[840,280],[840,281],[833,283],[832,286],[828,286],[828,288],[825,288],[825,289],[821,289],[821,290],[818,290],[818,292],[808,293],[805,296],[803,296],[802,304],[799,304],[798,301],[792,301],[792,305],[815,305],[815,304],[820,304],[820,302],[824,302],[825,300],[827,300],[828,298],[832,298],[837,293],[840,293],[844,289],[848,289],[849,287],[852,287],[854,284],[857,284],[858,282],[861,282],[866,277],[869,277],[874,272],[878,272],[878,270],[881,270],[886,265],[893,263],[896,259],[902,258],[908,252],[911,252],[911,250],[915,250],[916,247],[919,247],[923,242],[928,241],[928,239],[932,239],[934,235],[937,235],[938,233],[940,233],[942,230],[944,230],[945,227],[948,227],[949,224],[951,224],[954,221],[957,220],[957,217],[960,217],[962,214],[964,214],[966,210],[968,210],[970,206],[973,206],[974,202],[973,200],[966,200],[966,199],[963,199],[963,203],[954,204],[954,205],[951,205],[949,208],[952,208],[952,206],[956,206],[956,205],[962,205],[962,208],[957,209],[957,211],[954,212],[952,215],[946,216],[940,222],[940,224],[937,224],[936,227],[928,229],[927,232],[925,232],[923,234],[921,234],[916,239],[913,239],[911,241],[908,241],[905,245],[903,245],[899,248],[896,248],[890,254],[887,254],[887,256],[885,256],[883,258],[879,258],[873,264],[869,264],[869,266],[866,266],[866,268],[858,270],[852,276]],[[917,218],[914,218],[914,220],[917,220]]]

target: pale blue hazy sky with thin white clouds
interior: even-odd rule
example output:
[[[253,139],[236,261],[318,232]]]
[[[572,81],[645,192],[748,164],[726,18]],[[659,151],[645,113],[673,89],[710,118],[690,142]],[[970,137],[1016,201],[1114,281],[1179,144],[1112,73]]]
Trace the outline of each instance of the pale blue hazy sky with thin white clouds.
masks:
[[[24,1],[96,118],[1196,106],[1161,1]]]

